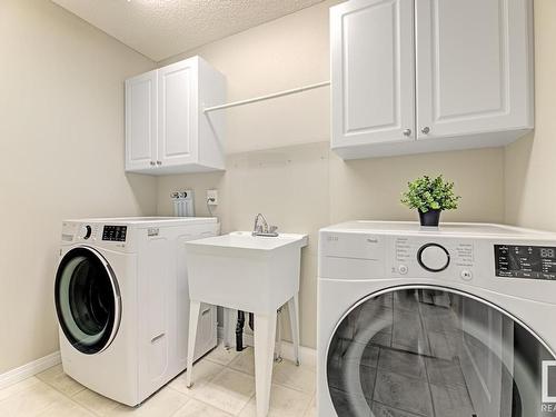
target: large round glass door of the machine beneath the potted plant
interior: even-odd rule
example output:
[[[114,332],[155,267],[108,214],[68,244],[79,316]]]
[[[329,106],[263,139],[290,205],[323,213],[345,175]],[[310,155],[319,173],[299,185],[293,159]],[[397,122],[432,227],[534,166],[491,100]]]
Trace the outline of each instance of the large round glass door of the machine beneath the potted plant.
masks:
[[[484,300],[405,287],[344,316],[326,371],[339,417],[554,417],[554,360],[529,329]]]

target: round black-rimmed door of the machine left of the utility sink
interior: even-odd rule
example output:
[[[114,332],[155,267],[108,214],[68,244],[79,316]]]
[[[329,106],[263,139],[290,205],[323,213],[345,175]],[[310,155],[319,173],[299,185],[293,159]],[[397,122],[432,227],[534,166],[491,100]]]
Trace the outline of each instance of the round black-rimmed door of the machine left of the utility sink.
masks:
[[[58,321],[69,342],[93,355],[105,350],[120,324],[118,281],[95,249],[71,249],[60,261],[54,285]]]

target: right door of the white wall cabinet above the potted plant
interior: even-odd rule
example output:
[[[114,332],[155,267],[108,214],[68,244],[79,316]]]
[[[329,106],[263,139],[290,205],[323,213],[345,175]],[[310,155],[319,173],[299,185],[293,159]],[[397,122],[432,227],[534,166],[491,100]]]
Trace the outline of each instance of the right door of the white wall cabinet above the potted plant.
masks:
[[[529,0],[416,2],[418,138],[532,127],[529,19]]]

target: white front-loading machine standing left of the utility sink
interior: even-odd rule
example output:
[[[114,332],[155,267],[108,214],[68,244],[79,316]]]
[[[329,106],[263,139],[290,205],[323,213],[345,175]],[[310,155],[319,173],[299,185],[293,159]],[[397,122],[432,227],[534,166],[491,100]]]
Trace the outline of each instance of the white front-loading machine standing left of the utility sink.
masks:
[[[216,236],[216,218],[63,221],[56,310],[66,374],[136,406],[183,371],[189,287],[185,242]],[[203,306],[196,358],[217,344]]]

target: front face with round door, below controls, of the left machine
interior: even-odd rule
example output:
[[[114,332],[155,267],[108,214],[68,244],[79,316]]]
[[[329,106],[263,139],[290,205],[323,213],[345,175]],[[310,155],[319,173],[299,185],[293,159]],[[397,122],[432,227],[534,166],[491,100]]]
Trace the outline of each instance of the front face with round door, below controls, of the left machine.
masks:
[[[54,295],[66,374],[120,403],[138,404],[139,311],[137,297],[129,296],[137,294],[137,255],[87,245],[61,255]]]

